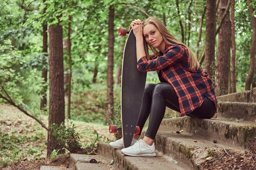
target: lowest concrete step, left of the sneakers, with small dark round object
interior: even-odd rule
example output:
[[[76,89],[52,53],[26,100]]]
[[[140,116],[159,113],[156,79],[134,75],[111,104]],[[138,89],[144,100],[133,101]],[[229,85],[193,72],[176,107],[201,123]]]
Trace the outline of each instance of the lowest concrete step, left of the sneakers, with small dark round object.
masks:
[[[70,154],[70,170],[119,170],[109,165],[110,162],[96,155]]]

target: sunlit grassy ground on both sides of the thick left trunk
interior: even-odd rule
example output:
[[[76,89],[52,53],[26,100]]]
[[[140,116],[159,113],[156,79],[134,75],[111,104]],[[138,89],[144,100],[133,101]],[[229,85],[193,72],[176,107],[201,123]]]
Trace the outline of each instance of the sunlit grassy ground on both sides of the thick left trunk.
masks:
[[[47,124],[47,116],[42,116],[42,121]],[[97,139],[93,129],[97,130],[99,141],[115,140],[115,136],[108,133],[108,126],[102,123],[76,120],[73,123],[81,135],[83,148]],[[47,131],[15,107],[0,104],[0,129],[0,168],[16,161],[47,156]]]

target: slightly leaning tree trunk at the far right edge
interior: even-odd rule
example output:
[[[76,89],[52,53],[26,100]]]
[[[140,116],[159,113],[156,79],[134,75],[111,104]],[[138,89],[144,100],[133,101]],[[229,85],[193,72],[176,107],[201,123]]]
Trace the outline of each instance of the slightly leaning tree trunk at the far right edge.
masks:
[[[249,7],[249,13],[251,17],[251,23],[252,23],[252,44],[251,44],[251,58],[250,58],[250,68],[249,68],[249,74],[246,78],[245,82],[245,90],[250,90],[251,89],[251,84],[252,84],[252,78],[254,75],[254,69],[255,69],[255,47],[256,47],[256,20],[253,15],[253,7],[249,5],[252,1],[247,0],[247,5]]]

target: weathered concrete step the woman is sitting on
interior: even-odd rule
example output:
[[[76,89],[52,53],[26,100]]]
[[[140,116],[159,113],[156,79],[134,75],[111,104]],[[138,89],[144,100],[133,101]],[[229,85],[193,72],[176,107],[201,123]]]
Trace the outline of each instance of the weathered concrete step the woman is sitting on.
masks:
[[[177,117],[163,119],[159,130],[176,132],[184,130],[186,134],[216,140],[223,144],[248,148],[249,141],[256,137],[256,124],[233,122],[220,119],[196,119],[191,117]]]

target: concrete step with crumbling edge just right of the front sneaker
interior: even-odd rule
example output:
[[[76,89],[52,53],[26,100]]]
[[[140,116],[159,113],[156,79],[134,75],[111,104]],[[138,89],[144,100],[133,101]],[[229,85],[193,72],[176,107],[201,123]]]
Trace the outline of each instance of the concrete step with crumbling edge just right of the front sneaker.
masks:
[[[142,134],[142,136],[145,132]],[[182,161],[191,167],[199,169],[200,163],[207,157],[216,156],[220,150],[236,150],[243,152],[239,147],[226,146],[220,143],[214,144],[198,137],[193,137],[183,132],[180,134],[173,132],[158,131],[155,138],[155,148],[164,155],[173,157],[177,161]]]

